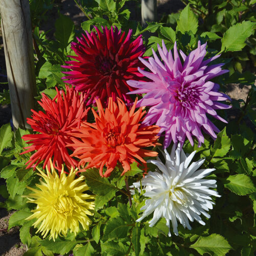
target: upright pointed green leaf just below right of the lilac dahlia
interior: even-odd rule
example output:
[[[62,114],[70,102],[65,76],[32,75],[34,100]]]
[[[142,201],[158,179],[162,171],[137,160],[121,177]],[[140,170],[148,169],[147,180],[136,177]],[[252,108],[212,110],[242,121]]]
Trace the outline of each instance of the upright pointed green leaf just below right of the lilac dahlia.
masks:
[[[217,135],[214,146],[211,146],[211,156],[224,157],[230,148],[230,139],[226,134],[226,127]]]

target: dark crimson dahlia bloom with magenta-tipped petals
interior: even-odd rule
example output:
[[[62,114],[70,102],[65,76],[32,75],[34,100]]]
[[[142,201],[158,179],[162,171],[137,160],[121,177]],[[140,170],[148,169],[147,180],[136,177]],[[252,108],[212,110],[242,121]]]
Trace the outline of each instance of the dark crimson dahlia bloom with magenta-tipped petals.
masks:
[[[86,34],[77,38],[78,43],[72,42],[71,48],[77,56],[69,56],[75,60],[67,61],[68,66],[62,66],[72,70],[62,72],[68,74],[62,79],[73,84],[79,92],[84,92],[86,98],[90,97],[88,105],[95,97],[100,98],[104,106],[108,105],[108,97],[114,101],[119,97],[129,103],[132,100],[126,93],[133,88],[126,80],[143,77],[138,72],[138,67],[144,67],[138,59],[145,52],[142,37],[131,41],[131,29],[126,36],[117,27],[102,27],[103,32],[97,27],[94,29],[96,32],[85,31]]]

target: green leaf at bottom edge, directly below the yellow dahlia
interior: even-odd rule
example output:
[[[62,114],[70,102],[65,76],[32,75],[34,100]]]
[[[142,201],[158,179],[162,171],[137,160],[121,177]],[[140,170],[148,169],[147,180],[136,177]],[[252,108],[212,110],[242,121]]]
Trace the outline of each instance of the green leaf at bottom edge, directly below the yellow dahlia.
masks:
[[[55,240],[55,242],[53,240],[48,239],[41,240],[38,242],[40,245],[45,246],[48,250],[59,254],[68,253],[77,244],[76,241],[61,241],[60,239]]]

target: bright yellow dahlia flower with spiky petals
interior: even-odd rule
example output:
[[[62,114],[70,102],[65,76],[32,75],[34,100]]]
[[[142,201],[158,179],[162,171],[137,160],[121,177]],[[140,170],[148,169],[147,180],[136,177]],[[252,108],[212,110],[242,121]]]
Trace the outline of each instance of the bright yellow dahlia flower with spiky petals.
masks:
[[[34,192],[28,195],[29,202],[37,206],[26,220],[37,219],[33,224],[38,227],[36,233],[41,232],[45,238],[50,231],[49,239],[54,241],[58,236],[66,237],[68,230],[76,235],[79,223],[88,230],[91,224],[88,215],[93,215],[95,196],[84,193],[88,186],[83,176],[76,178],[73,167],[66,176],[63,165],[58,176],[52,162],[51,172],[47,166],[46,169],[47,175],[37,168],[37,174],[45,180],[36,184],[39,189],[27,187]]]

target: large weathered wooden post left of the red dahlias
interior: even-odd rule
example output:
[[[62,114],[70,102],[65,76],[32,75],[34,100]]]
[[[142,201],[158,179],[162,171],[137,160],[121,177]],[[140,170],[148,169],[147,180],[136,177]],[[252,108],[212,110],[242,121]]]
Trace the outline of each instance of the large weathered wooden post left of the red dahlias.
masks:
[[[13,125],[31,129],[26,119],[36,83],[29,0],[0,0],[0,12]]]

